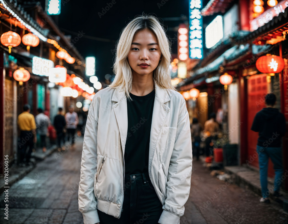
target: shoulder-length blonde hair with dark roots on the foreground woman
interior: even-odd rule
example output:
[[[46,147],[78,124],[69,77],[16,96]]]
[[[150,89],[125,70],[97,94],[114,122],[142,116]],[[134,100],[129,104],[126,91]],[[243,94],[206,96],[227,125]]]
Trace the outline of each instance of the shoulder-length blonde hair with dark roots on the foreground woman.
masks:
[[[112,88],[123,88],[129,100],[129,92],[132,90],[132,70],[127,60],[128,53],[134,34],[138,31],[149,29],[153,31],[157,37],[162,60],[153,71],[153,79],[159,86],[167,89],[175,90],[172,86],[170,78],[170,61],[171,61],[171,43],[164,31],[164,28],[158,18],[152,15],[137,16],[131,20],[122,30],[120,39],[116,43],[116,56],[113,64],[113,72],[115,79],[109,85]]]

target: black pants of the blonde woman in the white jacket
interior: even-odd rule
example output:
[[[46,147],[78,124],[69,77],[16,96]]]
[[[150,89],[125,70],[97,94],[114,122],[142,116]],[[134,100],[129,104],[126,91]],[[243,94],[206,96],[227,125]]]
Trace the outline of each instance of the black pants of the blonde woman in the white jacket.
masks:
[[[146,174],[149,177],[149,175]],[[124,201],[120,219],[98,211],[100,224],[157,224],[162,214],[162,203],[144,173],[125,174]],[[146,182],[146,183],[145,183]]]

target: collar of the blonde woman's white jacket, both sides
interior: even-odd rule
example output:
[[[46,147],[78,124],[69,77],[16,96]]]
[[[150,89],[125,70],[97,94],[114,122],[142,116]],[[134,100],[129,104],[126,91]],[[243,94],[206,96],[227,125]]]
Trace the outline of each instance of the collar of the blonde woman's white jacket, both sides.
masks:
[[[157,97],[162,103],[166,103],[170,101],[170,97],[168,95],[168,92],[165,88],[162,88],[156,81],[154,81],[155,86],[155,97]],[[122,97],[125,96],[125,90],[121,88],[115,88],[115,91],[112,96],[112,101],[119,102]]]

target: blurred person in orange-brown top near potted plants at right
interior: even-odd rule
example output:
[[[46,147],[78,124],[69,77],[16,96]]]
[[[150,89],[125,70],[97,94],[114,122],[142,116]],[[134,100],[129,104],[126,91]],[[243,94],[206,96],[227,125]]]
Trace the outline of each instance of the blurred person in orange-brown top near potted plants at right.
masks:
[[[212,112],[210,114],[210,119],[207,120],[204,124],[203,131],[207,136],[206,148],[205,148],[206,156],[209,156],[210,153],[211,154],[213,153],[213,151],[210,152],[210,146],[213,146],[212,139],[215,138],[215,136],[217,135],[217,132],[219,131],[219,124],[215,121],[215,119],[216,119],[216,114]]]

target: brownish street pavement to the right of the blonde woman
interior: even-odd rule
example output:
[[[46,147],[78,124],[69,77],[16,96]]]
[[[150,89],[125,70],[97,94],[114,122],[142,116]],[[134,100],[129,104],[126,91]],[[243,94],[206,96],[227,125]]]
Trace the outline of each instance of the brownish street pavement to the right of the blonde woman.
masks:
[[[210,176],[202,162],[193,160],[190,197],[180,224],[287,224],[288,215],[283,213],[283,207],[270,201],[271,204],[260,203],[259,195]],[[201,216],[204,222],[194,221]]]

